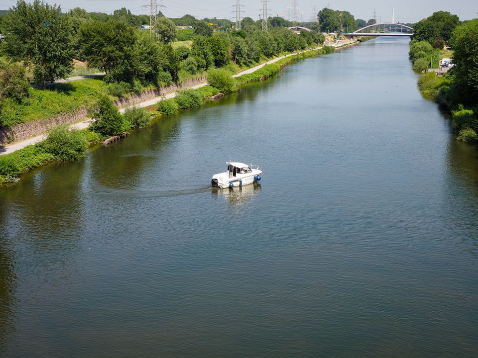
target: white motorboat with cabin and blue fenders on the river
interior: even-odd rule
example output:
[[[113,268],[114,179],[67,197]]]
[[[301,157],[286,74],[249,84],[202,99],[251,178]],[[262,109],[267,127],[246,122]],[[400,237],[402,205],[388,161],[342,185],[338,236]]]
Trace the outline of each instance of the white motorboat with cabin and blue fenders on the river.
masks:
[[[220,188],[232,188],[251,184],[260,180],[262,171],[258,166],[247,165],[239,162],[228,162],[228,170],[213,176],[211,185]]]

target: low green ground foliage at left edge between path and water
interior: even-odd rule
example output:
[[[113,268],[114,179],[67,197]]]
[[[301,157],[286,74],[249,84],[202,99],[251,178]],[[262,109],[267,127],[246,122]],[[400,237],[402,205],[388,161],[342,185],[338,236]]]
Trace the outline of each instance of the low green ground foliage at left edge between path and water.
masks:
[[[10,154],[0,156],[0,183],[13,181],[21,173],[36,168],[55,159],[55,155],[47,153],[37,145],[30,145]]]

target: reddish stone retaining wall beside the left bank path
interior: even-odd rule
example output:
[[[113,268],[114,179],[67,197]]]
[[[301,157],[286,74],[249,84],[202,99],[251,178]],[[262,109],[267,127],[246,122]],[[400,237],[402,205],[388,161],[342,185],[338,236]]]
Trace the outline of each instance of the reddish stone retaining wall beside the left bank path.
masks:
[[[81,81],[81,80],[79,80]],[[163,88],[165,93],[175,92],[178,89],[199,85],[206,82],[206,76],[199,78],[189,79],[184,81],[180,85],[170,85]],[[150,98],[158,97],[161,95],[160,89],[148,89],[140,94],[132,94],[125,98],[120,98],[115,101],[117,107],[125,107],[133,105]],[[30,137],[37,136],[45,133],[48,128],[58,126],[60,124],[69,124],[79,122],[87,116],[88,109],[82,107],[72,112],[60,113],[53,117],[43,118],[26,123],[19,123],[13,127],[1,127],[0,128],[0,144],[7,144],[13,141],[19,141]]]

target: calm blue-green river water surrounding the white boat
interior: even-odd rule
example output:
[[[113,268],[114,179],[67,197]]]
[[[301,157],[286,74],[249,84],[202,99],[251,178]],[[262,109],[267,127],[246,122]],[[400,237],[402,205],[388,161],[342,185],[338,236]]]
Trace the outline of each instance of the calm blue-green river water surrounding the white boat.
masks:
[[[409,40],[0,189],[0,356],[476,357],[478,159]],[[260,184],[208,187],[226,161]]]

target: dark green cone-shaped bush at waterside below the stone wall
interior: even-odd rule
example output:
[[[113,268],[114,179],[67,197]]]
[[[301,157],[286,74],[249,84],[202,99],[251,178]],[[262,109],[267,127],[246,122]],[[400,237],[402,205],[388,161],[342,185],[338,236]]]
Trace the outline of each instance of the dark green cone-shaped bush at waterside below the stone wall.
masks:
[[[98,102],[90,108],[88,115],[94,119],[90,130],[99,133],[102,138],[121,134],[123,118],[110,97],[101,96]]]

